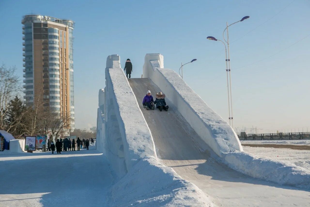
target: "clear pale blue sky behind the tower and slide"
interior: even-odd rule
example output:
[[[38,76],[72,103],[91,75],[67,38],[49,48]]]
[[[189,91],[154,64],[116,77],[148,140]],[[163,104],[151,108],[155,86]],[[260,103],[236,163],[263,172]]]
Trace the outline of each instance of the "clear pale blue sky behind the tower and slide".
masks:
[[[184,80],[228,121],[224,46],[206,37],[222,39],[226,21],[250,16],[229,29],[231,68],[242,67],[232,70],[234,126],[253,125],[262,133],[310,130],[310,36],[303,39],[310,34],[310,2],[291,2],[2,0],[0,62],[16,65],[22,80],[23,15],[72,19],[77,128],[96,126],[98,90],[111,54],[121,56],[122,67],[131,59],[132,77],[141,77],[146,53],[161,53],[165,68],[175,71],[197,58],[184,67]]]

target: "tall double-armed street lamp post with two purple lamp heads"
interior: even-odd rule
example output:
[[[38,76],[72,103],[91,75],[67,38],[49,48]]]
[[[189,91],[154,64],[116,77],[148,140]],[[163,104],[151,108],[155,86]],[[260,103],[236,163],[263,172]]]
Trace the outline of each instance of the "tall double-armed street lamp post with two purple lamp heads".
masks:
[[[241,20],[239,21],[236,21],[230,25],[228,25],[228,22],[226,22],[226,28],[224,29],[223,31],[223,39],[225,40],[225,42],[227,43],[227,48],[228,48],[228,58],[227,58],[227,50],[226,50],[226,44],[221,41],[224,45],[225,45],[225,53],[226,53],[226,59],[225,59],[225,62],[226,62],[226,72],[227,72],[227,90],[228,90],[228,111],[229,111],[229,125],[230,125],[230,120],[231,120],[231,126],[233,128],[233,116],[232,116],[232,82],[231,82],[231,72],[230,72],[230,51],[229,51],[229,36],[228,36],[228,27],[233,25],[233,24],[236,24],[238,22],[241,22],[241,21],[244,21],[246,19],[250,18],[250,16],[245,16],[243,17]],[[225,33],[225,30],[227,31],[227,41],[224,37],[224,33]],[[207,39],[210,39],[210,40],[215,40],[217,41],[218,39],[215,39],[214,37],[212,36],[209,36],[207,37]],[[227,63],[228,62],[228,63]],[[228,72],[229,72],[229,87],[228,87]],[[229,95],[229,92],[230,92],[230,95]],[[229,100],[230,98],[230,100]],[[229,103],[230,102],[230,103]],[[230,114],[230,111],[231,111],[231,114]]]

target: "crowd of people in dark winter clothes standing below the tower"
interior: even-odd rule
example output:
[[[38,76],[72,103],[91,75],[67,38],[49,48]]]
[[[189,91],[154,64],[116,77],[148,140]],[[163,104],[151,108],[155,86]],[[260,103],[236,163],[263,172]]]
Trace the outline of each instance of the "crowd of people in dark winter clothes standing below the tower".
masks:
[[[91,142],[91,145],[94,145],[94,139],[91,138],[89,139],[82,139],[80,140],[80,137],[75,141],[74,139],[57,139],[56,143],[53,141],[48,140],[47,143],[47,150],[52,151],[52,154],[54,154],[54,151],[56,149],[57,154],[61,154],[61,152],[66,152],[66,151],[76,151],[75,147],[77,146],[77,151],[80,149],[86,149],[89,150],[89,142]]]

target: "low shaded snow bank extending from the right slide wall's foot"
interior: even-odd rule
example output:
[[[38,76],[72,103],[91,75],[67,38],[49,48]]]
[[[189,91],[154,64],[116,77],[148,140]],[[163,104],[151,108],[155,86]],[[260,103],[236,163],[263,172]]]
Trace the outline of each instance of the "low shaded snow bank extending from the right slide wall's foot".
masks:
[[[225,155],[225,160],[231,168],[251,177],[276,182],[281,185],[310,189],[310,174],[301,167],[258,158],[245,152],[228,153]]]

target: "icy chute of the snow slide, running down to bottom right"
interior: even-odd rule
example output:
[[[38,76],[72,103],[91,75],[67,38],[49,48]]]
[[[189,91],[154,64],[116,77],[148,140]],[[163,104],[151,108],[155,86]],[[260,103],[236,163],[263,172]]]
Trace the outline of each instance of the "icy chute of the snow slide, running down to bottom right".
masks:
[[[144,118],[152,132],[157,155],[182,178],[194,183],[217,206],[309,206],[310,193],[304,189],[261,181],[216,162],[210,152],[201,153],[199,136],[170,105],[169,111],[142,108],[147,90],[160,89],[149,79],[129,79]],[[165,93],[165,91],[163,91]],[[169,97],[167,97],[169,99]],[[169,102],[167,103],[169,105]]]

